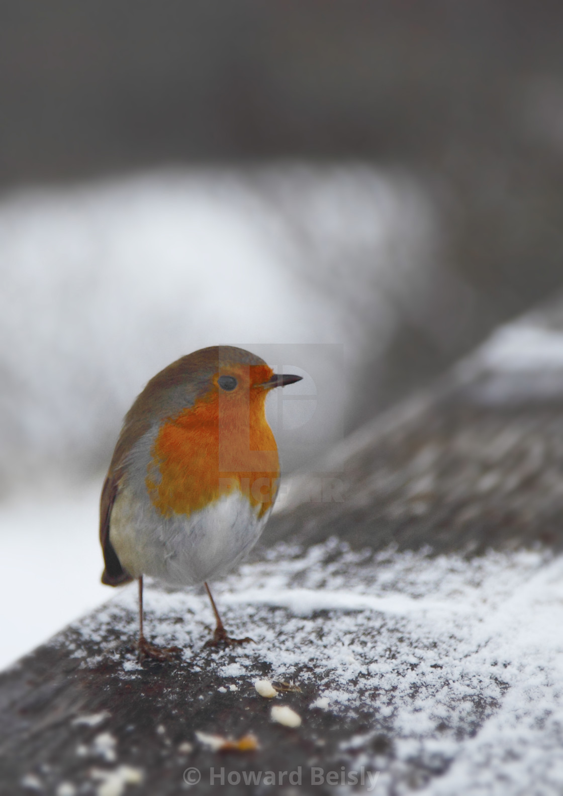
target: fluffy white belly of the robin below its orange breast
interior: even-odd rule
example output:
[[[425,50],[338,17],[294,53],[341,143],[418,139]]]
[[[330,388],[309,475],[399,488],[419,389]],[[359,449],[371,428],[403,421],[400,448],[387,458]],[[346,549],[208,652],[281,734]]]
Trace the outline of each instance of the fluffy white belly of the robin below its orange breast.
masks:
[[[111,510],[110,540],[131,576],[193,586],[224,575],[256,544],[269,514],[258,517],[259,508],[235,491],[188,517],[162,517],[126,488]]]

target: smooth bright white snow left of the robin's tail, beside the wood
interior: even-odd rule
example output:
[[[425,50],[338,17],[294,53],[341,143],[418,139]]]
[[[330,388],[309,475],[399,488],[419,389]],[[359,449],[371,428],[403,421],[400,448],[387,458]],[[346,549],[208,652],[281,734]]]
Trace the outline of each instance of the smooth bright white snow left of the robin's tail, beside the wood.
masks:
[[[99,490],[0,504],[0,669],[111,596],[100,583]]]

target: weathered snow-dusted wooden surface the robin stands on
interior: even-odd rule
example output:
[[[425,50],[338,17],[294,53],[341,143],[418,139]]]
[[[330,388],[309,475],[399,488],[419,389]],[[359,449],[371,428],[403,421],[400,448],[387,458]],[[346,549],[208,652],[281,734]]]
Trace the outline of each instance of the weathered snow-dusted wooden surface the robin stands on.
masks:
[[[147,629],[182,646],[178,662],[135,663],[135,595],[124,591],[2,673],[2,793],[179,794],[190,767],[201,772],[197,793],[219,788],[210,770],[221,767],[235,783],[301,767],[300,783],[247,786],[243,776],[233,793],[334,793],[311,783],[313,767],[376,794],[498,793],[500,782],[506,794],[557,792],[541,754],[561,746],[560,650],[547,644],[534,680],[522,665],[534,665],[538,644],[521,625],[532,603],[541,611],[552,598],[541,621],[561,618],[561,595],[541,592],[543,573],[557,588],[563,540],[560,325],[560,306],[531,317],[346,439],[318,474],[292,480],[252,560],[217,592],[230,629],[254,646],[203,649],[212,625],[203,597],[153,587]],[[526,329],[538,332],[527,359]],[[272,722],[253,686],[260,676],[299,685],[276,698],[299,712],[299,728]],[[522,709],[514,740],[498,719],[510,698],[514,715]],[[543,723],[534,700],[552,705]],[[253,732],[260,750],[212,751],[196,731]],[[373,788],[352,784],[362,771],[379,772]],[[123,787],[111,790],[111,776]]]

